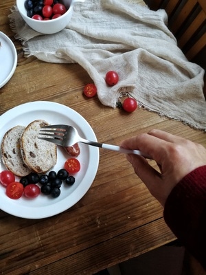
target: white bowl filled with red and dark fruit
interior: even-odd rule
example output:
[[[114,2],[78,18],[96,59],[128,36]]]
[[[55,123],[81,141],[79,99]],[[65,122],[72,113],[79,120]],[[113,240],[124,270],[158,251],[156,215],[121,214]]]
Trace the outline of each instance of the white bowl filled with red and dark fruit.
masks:
[[[16,6],[30,28],[42,34],[54,34],[67,26],[76,2],[84,0],[16,0]]]

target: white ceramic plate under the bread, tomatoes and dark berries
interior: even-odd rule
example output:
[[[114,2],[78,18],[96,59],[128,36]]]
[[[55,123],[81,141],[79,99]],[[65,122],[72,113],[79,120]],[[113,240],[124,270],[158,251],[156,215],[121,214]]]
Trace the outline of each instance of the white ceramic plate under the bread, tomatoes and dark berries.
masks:
[[[76,111],[65,105],[55,102],[30,102],[19,105],[0,116],[0,142],[8,129],[16,125],[27,126],[33,120],[43,119],[49,124],[70,124],[78,129],[82,137],[96,141],[95,133],[89,123]],[[76,173],[76,182],[73,186],[62,184],[60,196],[52,198],[47,195],[39,195],[35,199],[10,199],[5,195],[5,188],[0,184],[0,209],[16,217],[26,219],[42,219],[59,214],[77,203],[89,190],[99,165],[99,149],[87,144],[79,144],[81,164],[80,172]],[[57,164],[52,170],[56,172],[63,168],[69,155],[58,146]],[[1,156],[0,156],[1,157]],[[2,161],[0,172],[5,170]],[[17,177],[16,177],[17,178]]]

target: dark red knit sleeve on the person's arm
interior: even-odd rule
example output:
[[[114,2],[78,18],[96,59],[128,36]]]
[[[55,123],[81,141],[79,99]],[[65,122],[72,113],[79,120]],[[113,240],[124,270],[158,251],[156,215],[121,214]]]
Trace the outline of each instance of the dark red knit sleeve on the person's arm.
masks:
[[[173,188],[165,202],[164,219],[206,270],[206,165]]]

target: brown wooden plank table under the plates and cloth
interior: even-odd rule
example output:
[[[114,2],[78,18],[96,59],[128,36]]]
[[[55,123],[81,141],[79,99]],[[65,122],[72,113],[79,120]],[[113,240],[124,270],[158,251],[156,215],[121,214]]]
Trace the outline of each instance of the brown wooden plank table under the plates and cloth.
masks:
[[[24,58],[10,30],[14,1],[1,1],[0,28],[16,46],[18,66],[0,91],[0,113],[25,102],[48,100],[78,111],[100,142],[119,144],[126,137],[162,129],[206,146],[205,134],[181,122],[138,109],[125,113],[86,99],[91,82],[78,64],[43,63]],[[152,165],[156,165],[152,162]],[[157,248],[175,237],[163,220],[161,205],[150,195],[124,155],[100,149],[93,184],[75,206],[47,219],[21,219],[0,211],[1,274],[93,274]]]

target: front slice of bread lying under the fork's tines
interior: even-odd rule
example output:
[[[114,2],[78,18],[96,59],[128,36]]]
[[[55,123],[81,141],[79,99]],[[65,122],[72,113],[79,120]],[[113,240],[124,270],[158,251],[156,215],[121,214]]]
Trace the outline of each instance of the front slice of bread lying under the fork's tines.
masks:
[[[56,144],[38,139],[38,131],[49,125],[45,120],[34,120],[21,135],[21,155],[24,163],[36,173],[45,173],[57,161]]]

